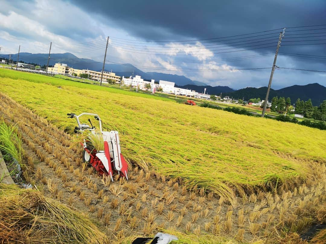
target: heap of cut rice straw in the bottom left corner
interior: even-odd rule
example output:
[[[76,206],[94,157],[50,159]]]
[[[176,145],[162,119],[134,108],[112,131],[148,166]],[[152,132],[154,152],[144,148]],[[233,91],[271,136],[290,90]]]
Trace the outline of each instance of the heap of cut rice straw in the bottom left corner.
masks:
[[[109,243],[81,213],[39,191],[0,184],[1,243]]]

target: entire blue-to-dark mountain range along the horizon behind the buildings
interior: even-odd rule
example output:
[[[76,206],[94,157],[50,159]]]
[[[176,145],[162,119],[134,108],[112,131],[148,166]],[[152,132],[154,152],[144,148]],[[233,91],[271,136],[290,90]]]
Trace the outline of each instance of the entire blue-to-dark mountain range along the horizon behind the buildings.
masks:
[[[11,58],[13,60],[17,60],[18,54],[13,54]],[[9,58],[8,54],[0,55],[0,58]],[[44,65],[48,61],[49,54],[47,53],[20,53],[19,60],[24,62],[37,63],[40,65]],[[52,53],[49,61],[49,65],[54,65],[57,62],[66,63],[68,66],[73,67],[75,69],[89,69],[95,71],[101,71],[103,67],[102,62],[97,62],[91,59],[82,59],[78,58],[71,53]],[[234,90],[227,86],[216,86],[212,87],[203,82],[191,80],[184,75],[172,75],[172,74],[164,74],[157,72],[143,72],[140,69],[137,69],[133,65],[126,64],[105,64],[106,71],[114,72],[119,76],[129,77],[130,75],[141,75],[143,79],[155,79],[158,80],[168,80],[175,83],[176,87],[187,88],[191,90],[196,90],[198,92],[203,92],[204,88],[206,88],[207,94],[215,94],[220,95],[222,93],[222,97],[230,96],[234,99],[244,99],[248,101],[250,98],[260,98],[264,99],[266,96],[267,87],[261,88],[252,88],[247,87],[239,90]],[[311,102],[314,106],[318,106],[323,100],[326,100],[326,87],[318,84],[308,84],[304,86],[294,85],[286,88],[282,88],[279,90],[270,90],[269,100],[272,100],[273,97],[289,97],[291,102],[294,103],[298,98],[301,100],[311,99]]]

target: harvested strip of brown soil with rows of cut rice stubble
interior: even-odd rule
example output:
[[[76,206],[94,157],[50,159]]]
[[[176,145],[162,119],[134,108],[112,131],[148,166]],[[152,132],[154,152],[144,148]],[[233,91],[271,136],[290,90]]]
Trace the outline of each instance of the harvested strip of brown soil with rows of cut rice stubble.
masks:
[[[24,176],[48,197],[88,214],[113,239],[149,235],[174,228],[196,235],[214,234],[240,241],[275,238],[311,224],[312,212],[325,203],[325,165],[304,185],[278,194],[258,191],[238,196],[236,207],[204,189],[187,191],[177,180],[134,166],[129,181],[100,177],[82,163],[82,148],[46,119],[0,93],[0,117],[17,124],[29,166]],[[324,173],[322,173],[324,172]],[[322,205],[321,205],[322,206]]]

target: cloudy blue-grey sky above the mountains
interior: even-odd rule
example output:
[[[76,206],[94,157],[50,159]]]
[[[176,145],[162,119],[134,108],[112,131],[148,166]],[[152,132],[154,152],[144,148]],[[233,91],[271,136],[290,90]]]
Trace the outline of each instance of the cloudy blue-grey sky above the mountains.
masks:
[[[102,61],[110,36],[108,63],[212,86],[262,87],[284,27],[276,65],[326,71],[325,12],[324,0],[0,0],[0,56],[19,45],[47,53],[52,42],[52,53]],[[326,86],[326,73],[277,69],[272,88],[315,82]]]

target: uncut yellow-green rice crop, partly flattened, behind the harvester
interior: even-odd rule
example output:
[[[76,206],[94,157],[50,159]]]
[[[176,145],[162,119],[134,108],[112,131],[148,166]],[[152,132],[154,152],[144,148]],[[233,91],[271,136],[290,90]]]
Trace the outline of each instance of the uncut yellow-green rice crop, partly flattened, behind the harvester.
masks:
[[[0,70],[2,92],[68,132],[67,113],[97,113],[131,162],[231,202],[304,179],[305,160],[326,161],[325,131],[30,75]]]

